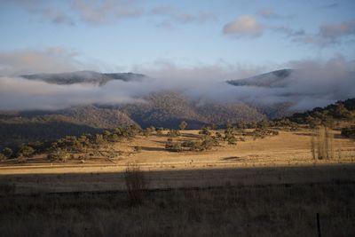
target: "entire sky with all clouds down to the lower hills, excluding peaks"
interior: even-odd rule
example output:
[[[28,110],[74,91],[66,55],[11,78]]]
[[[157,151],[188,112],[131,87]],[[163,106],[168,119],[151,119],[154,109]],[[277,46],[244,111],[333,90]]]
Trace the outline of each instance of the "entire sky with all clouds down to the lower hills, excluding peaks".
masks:
[[[0,0],[0,110],[135,102],[159,90],[326,106],[355,97],[353,12],[354,0]],[[297,69],[284,88],[225,83],[282,68]],[[20,77],[80,70],[149,80]]]

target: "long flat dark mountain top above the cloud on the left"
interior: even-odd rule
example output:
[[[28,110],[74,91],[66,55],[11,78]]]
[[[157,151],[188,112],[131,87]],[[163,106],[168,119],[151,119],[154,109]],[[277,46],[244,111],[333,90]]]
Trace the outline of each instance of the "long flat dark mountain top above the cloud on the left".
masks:
[[[103,74],[93,71],[78,71],[59,74],[21,75],[21,77],[53,84],[94,83],[104,85],[111,80],[121,80],[124,82],[142,81],[146,75],[133,73]]]

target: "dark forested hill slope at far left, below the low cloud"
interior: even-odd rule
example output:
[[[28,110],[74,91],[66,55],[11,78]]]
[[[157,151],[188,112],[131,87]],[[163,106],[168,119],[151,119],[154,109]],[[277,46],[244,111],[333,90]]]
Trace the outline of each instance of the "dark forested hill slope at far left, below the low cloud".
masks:
[[[83,133],[96,133],[133,123],[135,122],[130,117],[117,109],[94,106],[0,115],[0,148]]]

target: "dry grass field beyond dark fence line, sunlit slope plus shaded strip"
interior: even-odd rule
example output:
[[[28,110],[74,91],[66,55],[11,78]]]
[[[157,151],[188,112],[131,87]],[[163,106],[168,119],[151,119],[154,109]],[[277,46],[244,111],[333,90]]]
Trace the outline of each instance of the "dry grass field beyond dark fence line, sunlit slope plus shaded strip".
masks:
[[[151,188],[295,183],[306,182],[308,177],[317,182],[331,179],[327,171],[321,174],[322,170],[334,169],[331,174],[348,175],[341,170],[352,169],[350,164],[355,162],[354,140],[337,133],[335,157],[314,160],[310,130],[280,130],[280,135],[256,139],[248,132],[244,131],[245,136],[239,134],[245,141],[238,141],[237,145],[222,142],[202,152],[170,152],[164,149],[166,136],[151,135],[75,154],[77,158],[64,163],[48,162],[45,154],[39,154],[25,163],[3,162],[0,187],[11,186],[8,189],[16,194],[122,190],[122,171],[128,163],[137,163],[141,170],[149,171]],[[185,130],[174,141],[195,140],[199,136],[198,130]],[[141,150],[135,151],[135,146]]]

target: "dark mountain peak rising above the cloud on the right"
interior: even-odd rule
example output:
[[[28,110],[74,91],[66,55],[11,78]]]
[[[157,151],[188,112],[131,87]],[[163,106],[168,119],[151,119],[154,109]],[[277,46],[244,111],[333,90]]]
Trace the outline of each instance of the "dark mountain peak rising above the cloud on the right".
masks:
[[[262,75],[255,75],[244,79],[227,81],[227,83],[235,86],[257,86],[268,88],[285,87],[288,83],[288,77],[294,72],[294,69],[281,69]]]

